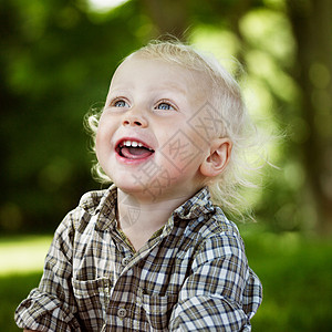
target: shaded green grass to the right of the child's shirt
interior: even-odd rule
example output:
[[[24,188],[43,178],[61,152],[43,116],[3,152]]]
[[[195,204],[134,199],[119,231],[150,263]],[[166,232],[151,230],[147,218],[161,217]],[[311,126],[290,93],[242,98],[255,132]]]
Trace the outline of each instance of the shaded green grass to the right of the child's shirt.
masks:
[[[299,234],[243,234],[249,263],[263,284],[252,331],[331,331],[332,243]]]

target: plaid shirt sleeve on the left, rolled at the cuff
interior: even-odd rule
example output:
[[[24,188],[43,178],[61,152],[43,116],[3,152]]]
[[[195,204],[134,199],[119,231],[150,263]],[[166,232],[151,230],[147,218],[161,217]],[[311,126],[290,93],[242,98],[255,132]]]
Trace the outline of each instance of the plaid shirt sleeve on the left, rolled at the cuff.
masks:
[[[81,331],[71,287],[73,214],[55,231],[40,284],[15,310],[19,328],[37,331]]]

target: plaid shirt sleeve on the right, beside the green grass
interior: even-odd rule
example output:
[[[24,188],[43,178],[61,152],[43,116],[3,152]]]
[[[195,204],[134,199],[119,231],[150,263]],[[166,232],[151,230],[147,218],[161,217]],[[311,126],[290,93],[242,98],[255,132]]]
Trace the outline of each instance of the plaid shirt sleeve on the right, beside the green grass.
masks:
[[[214,236],[196,255],[175,305],[169,331],[251,331],[261,284],[237,236]]]

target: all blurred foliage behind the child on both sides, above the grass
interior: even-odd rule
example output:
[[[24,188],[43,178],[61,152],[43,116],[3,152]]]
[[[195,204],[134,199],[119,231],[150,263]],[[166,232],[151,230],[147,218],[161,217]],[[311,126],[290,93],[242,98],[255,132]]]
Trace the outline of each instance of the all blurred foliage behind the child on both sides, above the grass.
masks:
[[[269,146],[280,169],[266,172],[252,196],[258,219],[276,231],[331,230],[331,66],[320,54],[332,51],[321,33],[308,44],[324,52],[302,59],[297,33],[309,22],[310,37],[330,9],[325,0],[131,0],[105,11],[87,0],[0,0],[1,231],[52,231],[100,187],[84,114],[102,107],[120,60],[165,33],[239,59],[253,117],[267,134],[286,134]]]

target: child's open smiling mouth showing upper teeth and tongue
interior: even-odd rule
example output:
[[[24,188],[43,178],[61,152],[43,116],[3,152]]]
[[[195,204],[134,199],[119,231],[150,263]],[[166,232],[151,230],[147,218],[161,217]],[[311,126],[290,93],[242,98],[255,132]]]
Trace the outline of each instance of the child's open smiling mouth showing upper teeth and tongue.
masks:
[[[154,149],[138,141],[121,141],[116,146],[120,156],[127,159],[145,159],[154,154]]]

